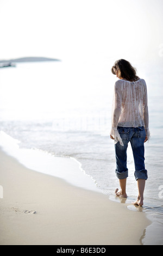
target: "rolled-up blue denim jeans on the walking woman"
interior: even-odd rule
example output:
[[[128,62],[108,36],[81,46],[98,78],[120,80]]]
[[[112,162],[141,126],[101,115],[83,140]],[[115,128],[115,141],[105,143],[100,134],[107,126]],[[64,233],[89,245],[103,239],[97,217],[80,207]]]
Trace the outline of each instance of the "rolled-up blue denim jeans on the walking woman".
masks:
[[[142,127],[120,127],[118,132],[122,138],[124,146],[117,142],[115,144],[116,153],[116,175],[118,179],[126,179],[128,177],[127,168],[127,148],[131,143],[135,163],[135,179],[148,179],[147,170],[145,169],[145,147],[146,138],[145,128]]]

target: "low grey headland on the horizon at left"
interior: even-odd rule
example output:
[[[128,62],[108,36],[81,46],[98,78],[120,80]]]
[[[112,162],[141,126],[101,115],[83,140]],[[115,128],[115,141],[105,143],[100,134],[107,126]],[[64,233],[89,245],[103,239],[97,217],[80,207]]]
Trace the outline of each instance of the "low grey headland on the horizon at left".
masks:
[[[0,60],[0,63],[18,63],[18,62],[60,62],[60,59],[52,59],[45,57],[23,57],[18,59]]]

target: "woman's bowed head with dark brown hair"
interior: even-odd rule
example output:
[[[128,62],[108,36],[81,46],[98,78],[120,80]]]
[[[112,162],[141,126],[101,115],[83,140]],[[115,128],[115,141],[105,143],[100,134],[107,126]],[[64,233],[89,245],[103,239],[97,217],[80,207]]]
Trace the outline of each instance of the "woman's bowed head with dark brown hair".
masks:
[[[128,81],[135,81],[138,76],[136,76],[136,69],[125,59],[116,60],[114,66],[111,68],[112,74],[116,75],[115,70],[118,70],[119,76]]]

